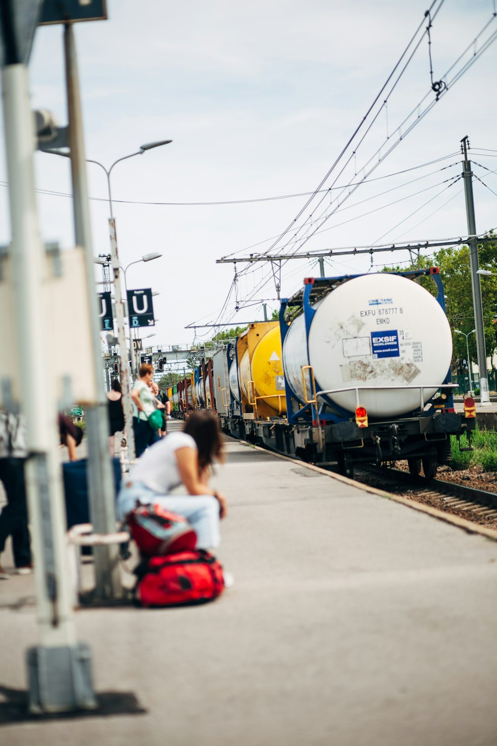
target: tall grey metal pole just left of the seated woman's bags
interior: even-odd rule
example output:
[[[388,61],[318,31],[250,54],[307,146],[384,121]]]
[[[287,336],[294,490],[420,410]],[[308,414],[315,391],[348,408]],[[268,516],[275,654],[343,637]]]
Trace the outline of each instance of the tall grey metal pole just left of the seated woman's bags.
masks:
[[[89,217],[88,187],[83,142],[79,78],[75,37],[72,24],[64,28],[66,57],[67,103],[69,110],[69,147],[71,152],[72,188],[74,193],[76,243],[84,249],[86,280],[89,291],[90,327],[93,342],[93,372],[97,401],[86,407],[88,439],[88,487],[90,519],[95,533],[115,533],[115,483],[113,466],[107,448],[109,422],[107,397],[102,376],[103,359],[100,348],[100,324],[95,286],[92,233]],[[123,589],[116,545],[98,546],[95,553],[95,597],[99,601],[122,598]]]

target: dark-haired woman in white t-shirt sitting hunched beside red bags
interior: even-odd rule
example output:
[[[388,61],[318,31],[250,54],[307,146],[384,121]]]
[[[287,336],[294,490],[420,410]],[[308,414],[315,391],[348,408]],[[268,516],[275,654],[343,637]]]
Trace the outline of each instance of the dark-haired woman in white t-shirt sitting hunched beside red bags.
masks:
[[[214,461],[222,462],[223,441],[212,413],[192,413],[183,432],[154,443],[131,468],[118,495],[118,515],[124,518],[137,501],[158,503],[183,515],[197,533],[197,549],[214,549],[221,540],[219,520],[227,513],[221,492],[209,488]],[[171,495],[183,484],[188,495]]]

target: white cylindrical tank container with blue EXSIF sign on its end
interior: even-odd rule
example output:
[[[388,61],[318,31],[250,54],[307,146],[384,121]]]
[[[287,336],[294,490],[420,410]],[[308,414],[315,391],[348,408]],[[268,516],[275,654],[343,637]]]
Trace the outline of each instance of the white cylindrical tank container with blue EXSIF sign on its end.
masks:
[[[314,310],[308,345],[303,314],[291,323],[283,345],[285,377],[300,401],[305,365],[312,366],[318,391],[367,386],[359,404],[371,417],[420,407],[420,389],[394,386],[431,386],[426,402],[443,383],[452,357],[449,322],[435,298],[413,280],[362,275],[329,292]],[[308,381],[307,374],[311,398]],[[392,388],[375,391],[379,386]],[[355,411],[355,391],[329,394],[327,401]]]

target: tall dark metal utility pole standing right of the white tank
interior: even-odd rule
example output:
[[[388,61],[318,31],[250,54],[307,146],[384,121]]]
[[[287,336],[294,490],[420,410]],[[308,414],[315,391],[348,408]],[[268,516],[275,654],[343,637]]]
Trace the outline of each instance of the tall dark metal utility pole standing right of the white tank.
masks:
[[[466,216],[468,221],[469,233],[469,266],[471,269],[473,310],[475,313],[476,351],[478,357],[478,370],[480,372],[480,402],[481,404],[488,404],[490,402],[490,396],[488,393],[487,351],[485,349],[485,328],[483,320],[483,307],[481,304],[481,283],[480,275],[478,275],[479,263],[478,239],[475,220],[475,201],[473,199],[471,161],[468,160],[467,141],[468,136],[466,135],[466,137],[463,137],[460,142],[461,151],[464,155],[463,179],[464,194],[466,196]]]

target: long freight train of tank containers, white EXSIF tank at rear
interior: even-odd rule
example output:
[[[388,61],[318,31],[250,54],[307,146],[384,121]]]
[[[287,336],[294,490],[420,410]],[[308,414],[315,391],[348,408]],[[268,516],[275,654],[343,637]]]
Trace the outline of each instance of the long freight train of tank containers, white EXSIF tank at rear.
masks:
[[[436,297],[416,280],[431,278]],[[450,436],[471,450],[475,403],[453,403],[439,269],[306,278],[279,322],[250,324],[169,389],[174,416],[206,407],[236,438],[352,477],[407,460],[434,477]]]

